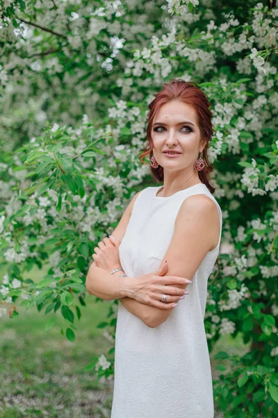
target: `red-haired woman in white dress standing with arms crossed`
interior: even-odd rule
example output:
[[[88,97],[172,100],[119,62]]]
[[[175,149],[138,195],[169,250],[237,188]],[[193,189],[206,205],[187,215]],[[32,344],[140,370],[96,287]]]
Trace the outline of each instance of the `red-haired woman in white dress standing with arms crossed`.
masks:
[[[178,79],[149,109],[150,149],[140,157],[152,155],[163,187],[134,196],[113,237],[95,248],[86,282],[89,293],[120,301],[111,418],[213,418],[204,313],[222,214],[208,180],[210,104]]]

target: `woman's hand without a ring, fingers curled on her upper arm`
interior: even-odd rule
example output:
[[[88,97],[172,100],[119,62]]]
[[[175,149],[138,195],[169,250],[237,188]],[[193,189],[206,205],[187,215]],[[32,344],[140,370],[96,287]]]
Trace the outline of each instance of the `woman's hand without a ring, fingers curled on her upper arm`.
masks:
[[[112,235],[111,238],[104,238],[98,243],[98,247],[94,248],[95,254],[92,254],[97,267],[108,272],[114,268],[122,267],[119,256],[120,243],[121,241],[116,240]]]

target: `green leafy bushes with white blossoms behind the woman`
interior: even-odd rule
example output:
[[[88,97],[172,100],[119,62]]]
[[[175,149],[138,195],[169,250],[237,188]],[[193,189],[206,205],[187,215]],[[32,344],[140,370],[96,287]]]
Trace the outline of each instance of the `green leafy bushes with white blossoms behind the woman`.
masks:
[[[0,315],[35,306],[46,330],[75,341],[93,249],[153,184],[138,159],[147,104],[163,82],[192,80],[213,107],[208,155],[223,215],[208,348],[225,334],[250,344],[216,355],[215,405],[225,418],[277,416],[275,2],[0,3]],[[39,282],[34,267],[47,268]],[[117,301],[99,324],[112,336],[116,311]],[[90,367],[111,376],[113,345]]]

